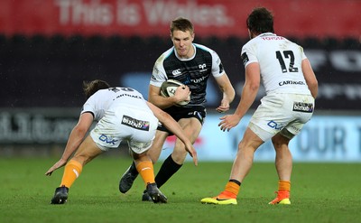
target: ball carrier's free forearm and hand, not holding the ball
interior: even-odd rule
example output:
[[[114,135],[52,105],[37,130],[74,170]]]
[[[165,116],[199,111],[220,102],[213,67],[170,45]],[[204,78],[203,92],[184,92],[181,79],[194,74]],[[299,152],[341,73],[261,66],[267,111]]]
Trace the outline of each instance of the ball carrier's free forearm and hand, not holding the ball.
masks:
[[[218,112],[226,112],[229,110],[230,104],[235,98],[235,88],[233,88],[226,73],[220,77],[217,77],[216,81],[220,90],[223,92],[223,98],[220,102],[220,106],[217,107],[216,110]]]

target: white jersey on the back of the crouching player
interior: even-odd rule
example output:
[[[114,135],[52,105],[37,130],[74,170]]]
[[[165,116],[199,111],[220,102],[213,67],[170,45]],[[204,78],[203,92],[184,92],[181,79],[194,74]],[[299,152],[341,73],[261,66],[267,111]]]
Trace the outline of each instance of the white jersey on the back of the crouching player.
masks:
[[[111,106],[125,104],[130,107],[144,107],[146,102],[143,95],[134,88],[106,88],[100,89],[85,102],[80,114],[90,112],[94,120],[99,121]],[[147,106],[146,106],[147,107]],[[149,108],[150,109],[150,108]]]

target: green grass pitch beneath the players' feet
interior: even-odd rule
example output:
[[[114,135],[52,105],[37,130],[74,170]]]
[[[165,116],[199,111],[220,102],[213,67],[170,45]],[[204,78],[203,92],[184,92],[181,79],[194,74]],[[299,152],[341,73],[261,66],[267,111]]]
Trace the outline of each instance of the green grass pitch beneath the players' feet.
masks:
[[[277,190],[273,163],[255,163],[238,205],[205,205],[224,189],[232,163],[185,163],[161,188],[167,204],[141,201],[138,178],[126,194],[118,181],[130,159],[98,157],[69,190],[65,205],[51,205],[63,168],[46,177],[54,158],[0,159],[0,222],[360,222],[361,163],[294,163],[292,205],[272,206]],[[160,163],[155,165],[155,171]]]

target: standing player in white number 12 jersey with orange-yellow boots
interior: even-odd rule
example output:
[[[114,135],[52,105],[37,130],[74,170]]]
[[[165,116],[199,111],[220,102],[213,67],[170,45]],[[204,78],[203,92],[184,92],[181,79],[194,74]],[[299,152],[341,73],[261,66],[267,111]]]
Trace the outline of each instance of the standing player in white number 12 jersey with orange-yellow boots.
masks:
[[[271,139],[279,182],[277,197],[269,204],[291,204],[292,154],[288,144],[313,114],[318,81],[301,46],[274,34],[273,14],[270,11],[264,7],[255,8],[246,24],[251,40],[241,52],[245,65],[245,85],[235,113],[220,118],[220,129],[229,131],[245,116],[255,101],[261,80],[266,96],[262,98],[238,144],[225,190],[217,197],[200,201],[236,204],[241,182],[252,167],[255,151]]]

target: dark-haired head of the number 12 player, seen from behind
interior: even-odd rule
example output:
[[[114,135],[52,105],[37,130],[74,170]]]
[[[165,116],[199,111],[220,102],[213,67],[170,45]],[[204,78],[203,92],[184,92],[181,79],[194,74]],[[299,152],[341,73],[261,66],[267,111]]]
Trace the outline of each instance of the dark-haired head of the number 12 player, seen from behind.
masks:
[[[274,33],[273,14],[264,7],[257,7],[248,15],[246,25],[250,34]]]

